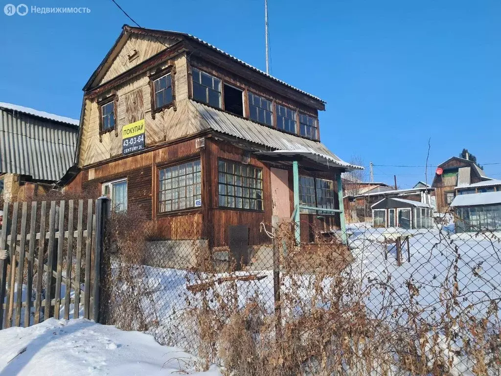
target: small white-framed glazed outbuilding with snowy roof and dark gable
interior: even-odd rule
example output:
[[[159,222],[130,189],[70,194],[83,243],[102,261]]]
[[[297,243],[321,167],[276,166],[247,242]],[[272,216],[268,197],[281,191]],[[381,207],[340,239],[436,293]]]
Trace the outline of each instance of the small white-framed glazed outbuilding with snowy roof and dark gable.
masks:
[[[429,229],[433,226],[433,208],[420,201],[386,198],[371,206],[373,227]]]

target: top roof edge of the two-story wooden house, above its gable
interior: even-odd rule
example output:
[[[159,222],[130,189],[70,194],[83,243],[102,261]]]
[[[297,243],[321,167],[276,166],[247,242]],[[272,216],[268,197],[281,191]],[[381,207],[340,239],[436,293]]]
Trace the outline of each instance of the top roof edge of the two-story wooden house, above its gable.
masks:
[[[87,81],[87,83],[85,84],[84,86],[84,91],[88,90],[91,88],[91,85],[92,83],[95,81],[96,77],[98,76],[98,74],[102,71],[102,69],[104,68],[106,62],[108,61],[108,59],[111,57],[113,51],[115,50],[115,48],[117,46],[120,45],[120,43],[123,43],[123,39],[125,38],[128,38],[128,35],[130,33],[135,33],[135,34],[143,34],[143,35],[149,35],[149,36],[152,36],[152,37],[155,37],[155,38],[172,38],[172,37],[177,37],[179,39],[187,39],[187,40],[190,40],[190,41],[194,41],[196,42],[197,44],[200,44],[200,45],[203,45],[205,47],[208,47],[210,48],[211,50],[217,52],[218,54],[226,57],[226,58],[229,58],[231,59],[232,61],[250,69],[250,70],[253,70],[257,73],[259,73],[260,75],[264,76],[264,77],[267,77],[268,79],[272,80],[272,81],[275,81],[277,83],[280,83],[290,89],[293,89],[303,95],[306,95],[320,103],[323,103],[325,104],[326,102],[323,101],[322,99],[320,99],[319,97],[316,97],[315,95],[312,95],[310,93],[307,93],[306,91],[303,91],[301,89],[298,89],[290,84],[288,84],[287,82],[285,81],[282,81],[264,71],[262,71],[261,69],[259,68],[256,68],[250,64],[247,64],[245,63],[244,61],[218,49],[217,47],[211,45],[210,43],[208,42],[205,42],[203,40],[201,40],[200,38],[197,38],[191,34],[186,34],[186,33],[180,33],[180,32],[175,32],[175,31],[167,31],[167,30],[157,30],[157,29],[146,29],[146,28],[138,28],[138,27],[132,27],[132,26],[129,26],[129,25],[124,25],[122,27],[122,32],[120,34],[120,36],[117,38],[117,40],[115,41],[113,47],[110,49],[110,51],[108,51],[108,53],[106,54],[105,58],[103,59],[103,61],[101,62],[101,64],[98,66],[98,68],[94,71],[94,73],[91,75],[90,79]],[[161,41],[159,41],[161,42]]]

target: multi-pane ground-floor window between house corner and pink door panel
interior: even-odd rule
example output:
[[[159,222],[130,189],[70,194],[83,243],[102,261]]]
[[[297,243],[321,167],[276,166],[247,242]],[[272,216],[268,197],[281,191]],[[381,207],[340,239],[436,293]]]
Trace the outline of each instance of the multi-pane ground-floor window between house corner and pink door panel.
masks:
[[[263,210],[263,169],[220,159],[217,170],[219,207]]]

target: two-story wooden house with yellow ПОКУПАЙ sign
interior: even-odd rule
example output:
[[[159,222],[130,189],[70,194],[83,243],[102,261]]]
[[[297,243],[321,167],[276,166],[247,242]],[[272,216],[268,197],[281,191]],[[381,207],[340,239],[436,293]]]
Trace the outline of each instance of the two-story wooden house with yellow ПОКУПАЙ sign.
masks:
[[[341,173],[361,168],[320,142],[319,110],[198,38],[124,26],[84,87],[67,189],[139,208],[166,239],[219,247],[243,225],[259,245],[270,242],[262,222],[292,218],[311,241],[311,225],[344,224]]]

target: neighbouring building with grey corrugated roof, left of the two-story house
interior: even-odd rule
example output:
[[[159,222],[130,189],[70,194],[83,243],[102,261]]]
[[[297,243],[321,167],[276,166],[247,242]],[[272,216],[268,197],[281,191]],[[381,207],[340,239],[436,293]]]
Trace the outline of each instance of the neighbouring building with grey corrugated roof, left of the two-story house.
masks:
[[[0,102],[0,192],[31,200],[50,190],[73,164],[78,120]]]

